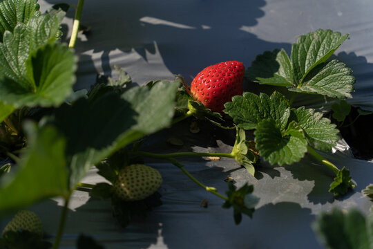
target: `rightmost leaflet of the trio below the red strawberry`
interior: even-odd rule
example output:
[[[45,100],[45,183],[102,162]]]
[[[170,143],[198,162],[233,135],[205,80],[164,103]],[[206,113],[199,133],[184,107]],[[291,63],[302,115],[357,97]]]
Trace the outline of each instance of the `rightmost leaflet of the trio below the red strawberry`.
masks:
[[[292,109],[290,120],[295,120],[302,127],[307,142],[315,149],[331,151],[338,141],[336,125],[314,109]]]

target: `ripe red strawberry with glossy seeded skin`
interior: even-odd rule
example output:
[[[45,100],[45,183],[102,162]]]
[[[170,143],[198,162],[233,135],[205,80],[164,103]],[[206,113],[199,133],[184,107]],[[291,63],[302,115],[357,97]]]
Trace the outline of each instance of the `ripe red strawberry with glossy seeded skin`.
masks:
[[[220,62],[204,68],[191,83],[194,100],[211,111],[222,112],[224,104],[242,95],[245,66],[241,62]]]

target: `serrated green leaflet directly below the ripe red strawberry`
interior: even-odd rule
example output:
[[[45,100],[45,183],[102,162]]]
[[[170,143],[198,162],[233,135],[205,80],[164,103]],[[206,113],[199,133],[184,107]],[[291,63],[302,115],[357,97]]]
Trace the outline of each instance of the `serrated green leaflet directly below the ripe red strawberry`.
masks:
[[[268,96],[265,93],[243,93],[224,104],[224,112],[242,129],[255,129],[258,122],[271,118],[280,129],[285,129],[290,116],[289,102],[278,92]]]

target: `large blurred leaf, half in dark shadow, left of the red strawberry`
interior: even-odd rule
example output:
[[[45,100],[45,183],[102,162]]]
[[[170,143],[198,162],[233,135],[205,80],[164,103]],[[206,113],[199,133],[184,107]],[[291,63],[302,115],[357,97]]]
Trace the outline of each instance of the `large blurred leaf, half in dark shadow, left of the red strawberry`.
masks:
[[[152,89],[134,87],[122,97],[111,91],[95,101],[80,99],[58,109],[54,122],[68,139],[70,185],[115,151],[169,127],[177,89],[176,82],[158,82]]]

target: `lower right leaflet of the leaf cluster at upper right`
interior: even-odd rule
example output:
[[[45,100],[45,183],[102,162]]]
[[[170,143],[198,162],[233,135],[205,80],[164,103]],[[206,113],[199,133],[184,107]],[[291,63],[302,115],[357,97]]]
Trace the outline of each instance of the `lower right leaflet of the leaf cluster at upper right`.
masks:
[[[350,93],[354,90],[352,84],[356,80],[351,73],[352,70],[343,62],[334,59],[316,66],[304,78],[302,84],[289,87],[289,91],[318,93],[332,98],[352,98]]]

